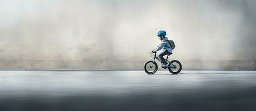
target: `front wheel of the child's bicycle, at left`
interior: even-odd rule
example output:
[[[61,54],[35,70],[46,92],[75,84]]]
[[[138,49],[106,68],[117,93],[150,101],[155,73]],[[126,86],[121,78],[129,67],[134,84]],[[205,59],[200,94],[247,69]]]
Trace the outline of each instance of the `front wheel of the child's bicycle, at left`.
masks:
[[[153,60],[146,62],[144,65],[144,70],[147,74],[154,74],[155,72],[157,72],[157,69],[158,69],[157,63],[154,62],[153,65],[152,63],[153,63]]]

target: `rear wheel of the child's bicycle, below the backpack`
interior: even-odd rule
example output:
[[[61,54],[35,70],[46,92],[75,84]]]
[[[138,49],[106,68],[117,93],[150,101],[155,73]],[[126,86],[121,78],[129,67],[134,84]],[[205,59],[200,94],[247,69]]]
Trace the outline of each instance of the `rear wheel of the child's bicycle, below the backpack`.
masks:
[[[181,69],[182,65],[181,62],[179,62],[178,60],[172,60],[168,65],[168,70],[172,74],[178,74],[179,72],[181,72]]]

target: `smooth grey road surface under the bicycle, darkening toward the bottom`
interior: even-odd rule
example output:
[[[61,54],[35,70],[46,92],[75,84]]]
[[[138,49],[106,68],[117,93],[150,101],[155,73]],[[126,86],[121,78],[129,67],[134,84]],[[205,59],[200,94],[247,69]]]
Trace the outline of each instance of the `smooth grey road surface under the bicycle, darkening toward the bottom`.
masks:
[[[0,110],[256,110],[256,71],[0,71]]]

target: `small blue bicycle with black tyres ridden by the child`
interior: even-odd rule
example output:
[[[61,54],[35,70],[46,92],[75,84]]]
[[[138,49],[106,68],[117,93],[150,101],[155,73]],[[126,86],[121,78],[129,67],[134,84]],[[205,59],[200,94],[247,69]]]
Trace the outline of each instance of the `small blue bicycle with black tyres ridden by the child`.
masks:
[[[170,54],[172,54],[172,53],[170,53]],[[172,74],[178,74],[179,72],[181,72],[181,69],[182,69],[181,62],[179,62],[178,60],[169,61],[168,56],[170,56],[170,54],[168,54],[167,58],[165,59],[166,62],[168,63],[167,67],[163,67],[163,68],[164,69],[168,68],[169,72]],[[154,74],[158,70],[158,65],[155,62],[155,59],[159,60],[159,62],[160,62],[160,59],[159,59],[159,57],[156,56],[157,52],[151,52],[149,55],[151,57],[153,57],[153,60],[150,60],[145,63],[144,70],[148,74]]]

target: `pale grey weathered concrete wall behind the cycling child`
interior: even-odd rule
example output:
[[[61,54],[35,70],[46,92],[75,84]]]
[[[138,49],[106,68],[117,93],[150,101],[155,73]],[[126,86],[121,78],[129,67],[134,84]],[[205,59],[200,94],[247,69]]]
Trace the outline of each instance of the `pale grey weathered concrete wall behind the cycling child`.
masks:
[[[0,69],[143,69],[164,29],[184,69],[256,69],[256,1],[1,0]]]

